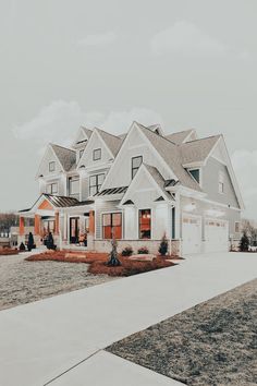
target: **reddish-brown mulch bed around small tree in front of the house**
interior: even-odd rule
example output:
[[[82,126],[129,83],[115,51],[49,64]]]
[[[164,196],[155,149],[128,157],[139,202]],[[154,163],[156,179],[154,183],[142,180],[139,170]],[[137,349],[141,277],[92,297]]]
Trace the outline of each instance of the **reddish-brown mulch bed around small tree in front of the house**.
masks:
[[[89,264],[88,273],[93,275],[109,275],[109,276],[132,276],[149,270],[171,267],[175,265],[171,261],[168,261],[171,256],[157,256],[152,261],[138,262],[131,261],[127,257],[119,256],[121,265],[118,267],[110,267],[107,265],[107,253],[94,253],[94,252],[45,252],[37,255],[32,255],[25,258],[28,262],[40,261],[54,261],[64,263],[86,263]]]

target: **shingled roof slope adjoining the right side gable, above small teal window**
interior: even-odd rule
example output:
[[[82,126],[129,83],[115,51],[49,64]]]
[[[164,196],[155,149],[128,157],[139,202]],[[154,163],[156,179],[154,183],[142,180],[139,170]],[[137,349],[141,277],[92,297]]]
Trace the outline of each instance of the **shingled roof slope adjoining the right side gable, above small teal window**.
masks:
[[[182,165],[204,162],[221,135],[186,142],[180,146]]]

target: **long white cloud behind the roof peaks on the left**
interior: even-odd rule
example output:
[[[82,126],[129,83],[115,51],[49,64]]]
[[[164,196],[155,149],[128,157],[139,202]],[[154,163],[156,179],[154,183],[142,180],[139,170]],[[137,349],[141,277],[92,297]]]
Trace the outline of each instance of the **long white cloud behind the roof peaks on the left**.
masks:
[[[19,140],[32,142],[32,146],[42,147],[49,142],[70,146],[81,125],[94,126],[121,134],[136,120],[143,124],[162,123],[159,113],[147,108],[132,108],[128,111],[85,111],[76,101],[56,100],[44,107],[30,121],[13,129]]]

